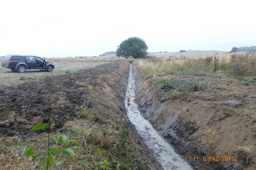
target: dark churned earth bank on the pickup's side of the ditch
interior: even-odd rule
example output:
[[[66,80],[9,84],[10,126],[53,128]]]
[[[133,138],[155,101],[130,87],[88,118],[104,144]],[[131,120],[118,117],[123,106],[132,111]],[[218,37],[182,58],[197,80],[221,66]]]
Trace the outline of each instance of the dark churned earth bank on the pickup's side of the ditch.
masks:
[[[114,60],[95,68],[60,76],[48,76],[39,81],[28,80],[20,86],[0,90],[0,137],[18,135],[22,140],[35,133],[32,127],[46,123],[53,114],[54,131],[70,120],[83,118],[75,112],[85,104],[96,108],[95,115],[103,120],[121,120],[125,117],[125,91],[129,74],[128,60]],[[136,134],[131,126],[130,132]],[[141,152],[148,159],[153,157],[143,146]],[[156,159],[151,163],[158,164]],[[160,169],[159,165],[151,166]]]

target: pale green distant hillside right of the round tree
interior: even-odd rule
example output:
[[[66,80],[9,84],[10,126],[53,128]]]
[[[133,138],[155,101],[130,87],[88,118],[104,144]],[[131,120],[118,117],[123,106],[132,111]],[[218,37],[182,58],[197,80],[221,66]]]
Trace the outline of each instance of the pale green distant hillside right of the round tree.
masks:
[[[156,57],[181,57],[181,56],[212,56],[217,54],[225,54],[228,51],[216,51],[216,50],[188,50],[186,52],[165,52],[165,53],[154,53]]]

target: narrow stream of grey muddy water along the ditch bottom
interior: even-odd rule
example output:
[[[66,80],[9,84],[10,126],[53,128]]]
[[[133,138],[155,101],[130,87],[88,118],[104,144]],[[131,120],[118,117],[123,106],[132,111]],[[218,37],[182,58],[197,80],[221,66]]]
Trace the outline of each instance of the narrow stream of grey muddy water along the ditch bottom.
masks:
[[[130,65],[129,82],[127,90],[131,94],[130,106],[128,107],[128,117],[135,125],[138,133],[143,138],[146,145],[154,151],[157,160],[161,163],[165,170],[192,170],[190,165],[181,159],[175,153],[173,147],[165,142],[152,125],[145,120],[139,112],[138,105],[135,103],[135,82],[132,75],[132,66]],[[127,106],[127,103],[126,103]]]

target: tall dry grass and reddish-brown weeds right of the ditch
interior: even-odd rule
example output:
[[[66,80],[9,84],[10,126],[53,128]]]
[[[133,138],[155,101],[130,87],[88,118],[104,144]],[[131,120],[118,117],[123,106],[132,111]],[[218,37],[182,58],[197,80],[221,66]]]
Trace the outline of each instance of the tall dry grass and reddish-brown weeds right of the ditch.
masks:
[[[254,76],[256,73],[255,53],[232,53],[206,57],[180,57],[167,59],[144,59],[137,62],[145,76],[168,74],[198,75],[226,73],[234,76]]]

